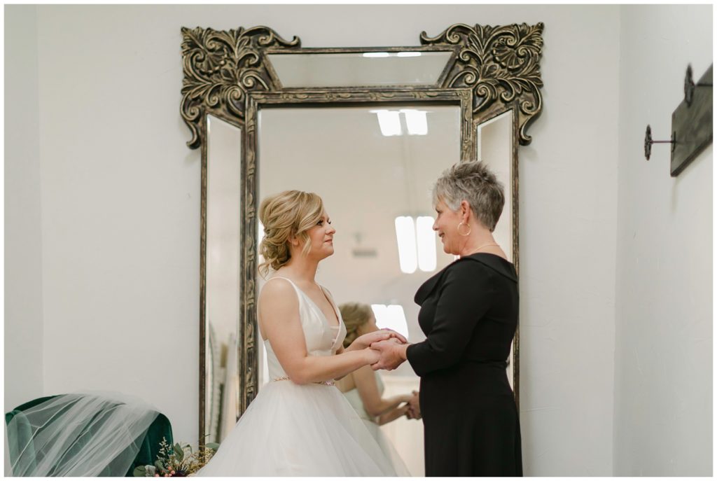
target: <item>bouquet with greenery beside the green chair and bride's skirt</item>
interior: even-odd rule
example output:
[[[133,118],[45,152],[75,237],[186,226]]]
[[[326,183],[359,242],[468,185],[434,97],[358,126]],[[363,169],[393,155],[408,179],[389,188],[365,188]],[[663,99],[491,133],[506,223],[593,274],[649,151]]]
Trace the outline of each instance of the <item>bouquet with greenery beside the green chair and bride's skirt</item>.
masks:
[[[208,442],[196,451],[189,444],[169,444],[165,438],[159,443],[159,454],[154,465],[138,466],[134,470],[137,477],[173,477],[191,476],[201,469],[217,452],[219,444]]]

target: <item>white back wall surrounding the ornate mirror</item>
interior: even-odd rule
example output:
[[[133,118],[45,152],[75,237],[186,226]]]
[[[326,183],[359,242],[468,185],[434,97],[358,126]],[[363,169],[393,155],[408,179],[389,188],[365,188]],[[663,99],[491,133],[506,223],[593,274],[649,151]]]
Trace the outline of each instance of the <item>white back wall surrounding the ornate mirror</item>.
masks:
[[[545,22],[545,107],[520,168],[524,465],[527,475],[612,474],[617,6],[37,11],[44,391],[138,394],[188,442],[196,439],[200,166],[179,116],[180,27],[265,24],[305,47],[351,47],[417,45],[423,30],[437,35],[459,22]],[[24,97],[6,105],[19,108]]]

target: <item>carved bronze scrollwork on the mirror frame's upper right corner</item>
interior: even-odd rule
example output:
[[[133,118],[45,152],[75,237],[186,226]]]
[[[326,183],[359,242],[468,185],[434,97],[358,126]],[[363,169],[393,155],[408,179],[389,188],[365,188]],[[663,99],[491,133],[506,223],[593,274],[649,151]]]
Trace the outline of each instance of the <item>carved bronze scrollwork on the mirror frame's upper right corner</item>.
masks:
[[[422,32],[421,43],[459,44],[462,48],[443,87],[472,88],[476,117],[500,112],[505,104],[518,105],[519,141],[525,146],[531,143],[526,129],[543,108],[542,33],[542,22],[501,27],[455,24],[437,37]]]

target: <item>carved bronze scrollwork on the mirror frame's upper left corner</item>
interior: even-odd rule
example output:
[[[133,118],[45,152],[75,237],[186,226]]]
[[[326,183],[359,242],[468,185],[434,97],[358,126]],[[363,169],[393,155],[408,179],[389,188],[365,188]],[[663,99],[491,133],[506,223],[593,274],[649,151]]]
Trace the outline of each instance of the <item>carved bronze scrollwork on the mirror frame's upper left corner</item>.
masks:
[[[199,132],[203,113],[244,118],[244,102],[250,90],[274,90],[262,58],[268,47],[298,48],[294,37],[282,39],[268,27],[232,29],[188,29],[183,27],[181,116],[191,130],[190,148],[201,145]]]

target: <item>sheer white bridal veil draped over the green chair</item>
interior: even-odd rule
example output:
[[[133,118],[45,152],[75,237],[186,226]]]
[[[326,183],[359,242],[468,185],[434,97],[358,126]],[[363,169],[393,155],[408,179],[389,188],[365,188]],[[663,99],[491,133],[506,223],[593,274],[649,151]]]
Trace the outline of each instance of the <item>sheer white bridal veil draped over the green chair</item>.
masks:
[[[115,393],[62,394],[7,425],[13,476],[124,476],[158,411]]]

